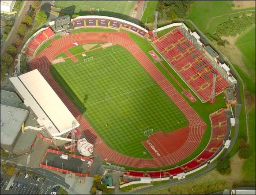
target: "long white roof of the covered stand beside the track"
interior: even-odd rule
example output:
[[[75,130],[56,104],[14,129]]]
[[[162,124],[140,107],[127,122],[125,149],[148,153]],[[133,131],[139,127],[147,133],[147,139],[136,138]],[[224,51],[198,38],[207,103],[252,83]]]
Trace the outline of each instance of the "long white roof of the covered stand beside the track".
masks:
[[[10,78],[15,88],[38,117],[38,123],[58,136],[72,130],[75,117],[60,100],[38,69]],[[79,123],[76,122],[75,127]]]

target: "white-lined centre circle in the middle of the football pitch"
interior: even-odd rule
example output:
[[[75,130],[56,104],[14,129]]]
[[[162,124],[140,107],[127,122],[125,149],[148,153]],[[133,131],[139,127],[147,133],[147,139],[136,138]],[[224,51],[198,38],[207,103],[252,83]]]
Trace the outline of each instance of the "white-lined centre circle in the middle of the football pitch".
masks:
[[[116,104],[121,104],[125,101],[128,101],[129,97],[129,92],[122,88],[113,88],[111,90],[108,90],[106,93],[106,98],[108,99],[108,101]]]

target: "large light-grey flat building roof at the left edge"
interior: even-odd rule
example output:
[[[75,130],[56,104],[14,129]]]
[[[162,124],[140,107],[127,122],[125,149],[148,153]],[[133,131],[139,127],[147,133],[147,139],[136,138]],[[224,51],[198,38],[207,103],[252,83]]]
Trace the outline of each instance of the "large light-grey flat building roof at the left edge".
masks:
[[[27,110],[1,105],[1,144],[13,144],[27,115]]]

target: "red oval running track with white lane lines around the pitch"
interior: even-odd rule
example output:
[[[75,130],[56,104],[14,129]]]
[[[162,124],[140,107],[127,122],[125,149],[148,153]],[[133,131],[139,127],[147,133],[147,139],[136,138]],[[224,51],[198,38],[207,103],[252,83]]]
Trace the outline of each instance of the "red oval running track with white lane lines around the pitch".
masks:
[[[56,83],[49,71],[49,66],[51,65],[50,61],[52,61],[61,52],[74,47],[74,42],[77,42],[78,44],[110,42],[119,44],[133,54],[143,68],[147,70],[147,72],[154,78],[158,85],[162,87],[166,94],[188,119],[189,135],[184,145],[182,145],[181,148],[179,148],[176,152],[157,159],[133,158],[120,154],[109,148],[109,146],[102,141],[95,130],[90,126],[87,120],[80,115],[79,110]],[[44,76],[49,85],[53,88],[56,94],[80,123],[79,130],[83,132],[90,143],[94,144],[94,148],[97,150],[98,154],[108,162],[114,162],[125,166],[146,168],[175,164],[186,158],[196,149],[203,136],[204,130],[206,129],[206,124],[203,122],[200,116],[198,116],[192,107],[188,105],[184,98],[169,83],[169,81],[166,80],[162,73],[147,58],[136,43],[124,32],[82,32],[65,36],[46,47],[40,54],[30,61],[30,65],[32,69],[38,69],[41,72],[42,76]]]

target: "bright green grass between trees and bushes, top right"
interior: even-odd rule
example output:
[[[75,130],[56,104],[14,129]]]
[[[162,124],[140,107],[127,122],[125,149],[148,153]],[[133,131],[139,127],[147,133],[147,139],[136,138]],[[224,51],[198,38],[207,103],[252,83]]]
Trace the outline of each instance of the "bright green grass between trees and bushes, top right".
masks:
[[[189,11],[191,19],[203,32],[214,34],[217,26],[230,18],[250,14],[255,7],[232,9],[232,1],[195,1]]]

